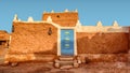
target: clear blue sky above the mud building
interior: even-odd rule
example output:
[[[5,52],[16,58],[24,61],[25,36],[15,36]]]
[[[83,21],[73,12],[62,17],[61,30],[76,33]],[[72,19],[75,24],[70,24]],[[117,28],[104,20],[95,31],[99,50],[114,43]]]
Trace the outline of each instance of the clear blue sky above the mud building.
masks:
[[[99,20],[110,26],[130,26],[130,0],[0,0],[0,30],[11,32],[14,14],[22,20],[32,16],[41,20],[43,11],[78,10],[82,25],[94,26]]]

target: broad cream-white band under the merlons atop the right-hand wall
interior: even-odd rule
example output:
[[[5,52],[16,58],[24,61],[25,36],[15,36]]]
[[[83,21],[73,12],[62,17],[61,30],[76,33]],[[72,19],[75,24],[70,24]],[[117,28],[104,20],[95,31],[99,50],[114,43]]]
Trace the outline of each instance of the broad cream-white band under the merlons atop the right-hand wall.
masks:
[[[126,27],[113,27],[113,26],[81,26],[76,27],[77,32],[129,32],[129,28]]]

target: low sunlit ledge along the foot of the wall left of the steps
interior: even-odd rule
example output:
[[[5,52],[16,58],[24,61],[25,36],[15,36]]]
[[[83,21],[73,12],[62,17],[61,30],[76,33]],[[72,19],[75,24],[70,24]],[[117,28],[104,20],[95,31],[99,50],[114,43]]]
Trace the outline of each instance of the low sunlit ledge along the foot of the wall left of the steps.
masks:
[[[5,62],[26,62],[26,61],[42,61],[51,62],[55,59],[55,55],[37,55],[37,54],[10,54],[5,55]]]

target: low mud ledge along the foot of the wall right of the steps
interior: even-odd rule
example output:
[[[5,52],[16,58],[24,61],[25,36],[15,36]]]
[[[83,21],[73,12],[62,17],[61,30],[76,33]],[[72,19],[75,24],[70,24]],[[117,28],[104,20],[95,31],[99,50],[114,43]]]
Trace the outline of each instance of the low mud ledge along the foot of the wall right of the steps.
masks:
[[[128,54],[80,54],[81,62],[128,62]]]

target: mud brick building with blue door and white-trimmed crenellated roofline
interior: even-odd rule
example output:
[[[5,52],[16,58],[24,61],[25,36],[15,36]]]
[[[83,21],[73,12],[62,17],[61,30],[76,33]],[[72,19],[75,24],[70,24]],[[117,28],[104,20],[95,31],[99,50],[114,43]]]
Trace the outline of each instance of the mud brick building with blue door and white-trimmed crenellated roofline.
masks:
[[[23,21],[15,15],[4,58],[5,62],[54,61],[68,56],[78,62],[128,61],[129,30],[117,21],[81,26],[77,11],[43,13],[40,21],[32,17]]]

